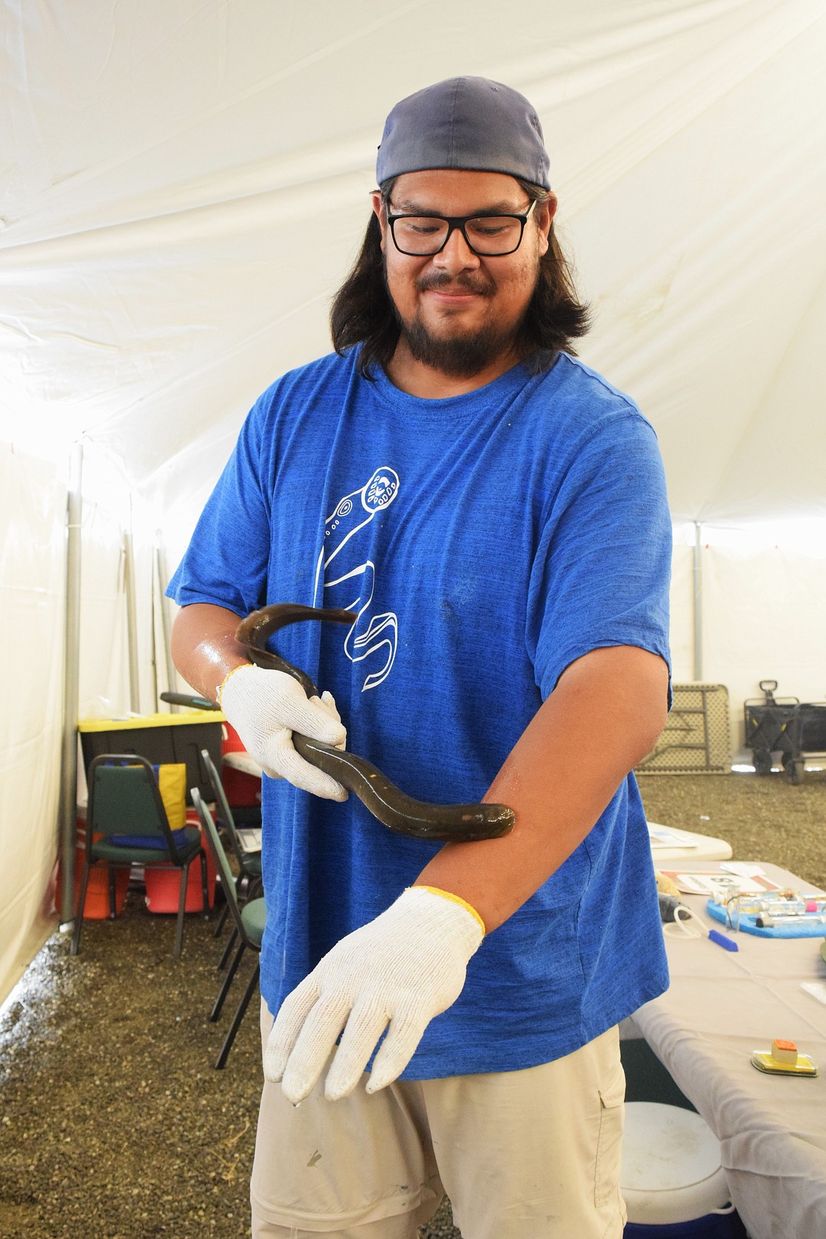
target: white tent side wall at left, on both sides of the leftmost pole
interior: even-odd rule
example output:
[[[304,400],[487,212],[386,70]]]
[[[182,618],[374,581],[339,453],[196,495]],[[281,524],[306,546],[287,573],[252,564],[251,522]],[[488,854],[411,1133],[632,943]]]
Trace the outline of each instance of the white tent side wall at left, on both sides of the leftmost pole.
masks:
[[[84,470],[80,567],[79,716],[129,712],[123,530],[130,518],[123,479]],[[114,484],[113,484],[114,482]],[[0,1002],[57,923],[58,795],[64,655],[66,481],[52,462],[0,446],[0,639],[11,652],[0,714]],[[136,543],[141,649],[151,647],[152,545]],[[155,709],[151,662],[141,659],[141,706]],[[79,800],[85,797],[79,763]]]

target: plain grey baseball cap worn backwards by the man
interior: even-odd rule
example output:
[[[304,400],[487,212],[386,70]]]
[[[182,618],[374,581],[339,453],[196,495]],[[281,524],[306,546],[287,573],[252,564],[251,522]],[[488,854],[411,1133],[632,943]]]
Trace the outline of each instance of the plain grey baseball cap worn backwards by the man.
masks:
[[[504,172],[550,190],[542,126],[528,99],[489,78],[447,78],[395,105],[384,125],[379,185],[426,169]]]

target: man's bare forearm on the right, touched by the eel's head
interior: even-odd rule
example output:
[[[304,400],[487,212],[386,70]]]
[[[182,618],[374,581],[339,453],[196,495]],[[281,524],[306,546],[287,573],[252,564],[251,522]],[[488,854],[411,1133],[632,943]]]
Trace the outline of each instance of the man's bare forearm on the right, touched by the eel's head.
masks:
[[[633,646],[594,649],[560,676],[485,800],[510,805],[509,835],[447,844],[416,878],[458,895],[488,933],[578,847],[665,725],[667,668]]]

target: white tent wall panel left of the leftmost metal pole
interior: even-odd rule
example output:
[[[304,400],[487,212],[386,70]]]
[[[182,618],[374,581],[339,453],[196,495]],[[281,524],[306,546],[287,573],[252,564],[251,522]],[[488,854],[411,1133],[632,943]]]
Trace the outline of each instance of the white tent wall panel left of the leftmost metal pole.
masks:
[[[56,924],[66,487],[0,447],[0,1002]]]

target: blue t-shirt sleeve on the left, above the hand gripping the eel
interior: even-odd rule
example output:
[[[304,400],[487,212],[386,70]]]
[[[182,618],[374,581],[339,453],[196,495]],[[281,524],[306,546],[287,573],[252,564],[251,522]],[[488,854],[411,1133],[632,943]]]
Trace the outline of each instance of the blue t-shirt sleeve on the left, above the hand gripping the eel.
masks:
[[[266,602],[270,501],[263,476],[263,400],[209,496],[166,593],[178,606],[211,602],[239,616]]]

